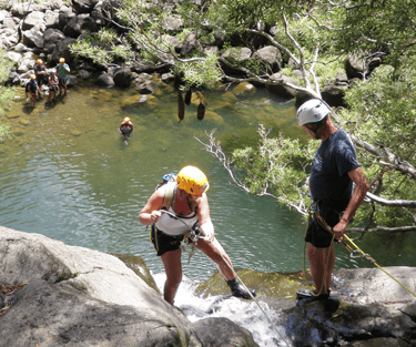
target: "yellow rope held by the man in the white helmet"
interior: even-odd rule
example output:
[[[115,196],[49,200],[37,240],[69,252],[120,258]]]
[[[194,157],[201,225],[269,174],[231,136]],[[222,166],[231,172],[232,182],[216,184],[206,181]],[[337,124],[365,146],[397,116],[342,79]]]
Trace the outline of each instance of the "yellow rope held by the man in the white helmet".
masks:
[[[312,205],[312,204],[311,204]],[[311,207],[311,206],[310,206]],[[331,242],[331,246],[333,245],[334,243],[334,239],[335,239],[335,233],[333,232],[332,227],[329,225],[327,225],[327,223],[325,222],[325,220],[321,216],[319,212],[316,210],[315,211],[315,214],[316,214],[316,218],[317,221],[319,222],[321,226],[324,227],[326,231],[328,231],[332,235],[333,235],[333,238],[332,238],[332,242]],[[392,274],[389,274],[388,272],[386,272],[382,266],[379,266],[376,261],[367,253],[364,253],[347,235],[344,234],[344,237],[347,242],[351,243],[352,246],[355,247],[355,249],[353,249],[353,247],[351,245],[348,245],[344,239],[339,239],[339,242],[343,243],[343,245],[345,246],[345,248],[347,248],[347,251],[349,252],[349,257],[354,258],[354,257],[363,257],[363,258],[366,258],[369,263],[374,264],[375,266],[377,266],[382,272],[384,272],[387,276],[389,276],[393,280],[395,280],[397,284],[399,284],[404,289],[406,289],[408,293],[410,293],[413,296],[416,297],[416,294],[410,290],[408,287],[406,287],[403,283],[400,283],[397,278],[395,278]],[[305,242],[305,245],[306,245],[306,242]],[[329,247],[331,247],[329,246]],[[306,267],[305,267],[305,246],[304,246],[304,258],[303,258],[303,263],[304,263],[304,277],[305,277],[305,282],[307,284],[307,279],[306,279]],[[355,255],[355,253],[359,253],[358,255]],[[324,284],[325,282],[325,278],[326,278],[326,269],[327,269],[327,265],[328,265],[328,261],[329,261],[329,253],[328,253],[328,258],[326,261],[326,266],[325,266],[325,272],[324,272],[324,277],[323,277],[323,282],[322,282],[322,285]],[[316,288],[317,289],[317,288]],[[321,287],[321,290],[322,290],[322,287]],[[318,293],[321,293],[321,290]],[[314,294],[313,292],[311,292],[312,294]]]

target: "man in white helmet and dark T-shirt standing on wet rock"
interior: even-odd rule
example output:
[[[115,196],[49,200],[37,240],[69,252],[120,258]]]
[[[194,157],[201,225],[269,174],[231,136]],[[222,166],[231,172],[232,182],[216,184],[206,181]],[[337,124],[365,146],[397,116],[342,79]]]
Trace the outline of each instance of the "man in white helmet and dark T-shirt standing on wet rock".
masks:
[[[329,113],[323,101],[312,99],[298,108],[296,115],[297,124],[313,139],[322,141],[311,167],[313,217],[305,237],[310,243],[307,257],[315,290],[300,290],[298,299],[329,298],[335,265],[334,235],[335,241],[344,238],[348,223],[369,188],[352,140],[332,123]]]

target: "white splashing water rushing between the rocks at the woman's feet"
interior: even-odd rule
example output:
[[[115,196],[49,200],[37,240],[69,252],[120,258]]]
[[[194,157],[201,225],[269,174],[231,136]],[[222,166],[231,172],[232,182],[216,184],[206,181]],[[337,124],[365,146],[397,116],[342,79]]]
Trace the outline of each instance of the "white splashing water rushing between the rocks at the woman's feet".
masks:
[[[164,273],[153,274],[153,278],[158,288],[163,293],[166,275]],[[229,318],[252,333],[253,339],[261,347],[287,346],[284,328],[276,325],[280,313],[272,309],[266,303],[256,300],[261,309],[255,302],[242,300],[233,296],[219,295],[202,298],[195,296],[196,287],[196,282],[183,276],[174,302],[174,305],[192,323],[212,317]],[[274,327],[270,320],[275,324]]]

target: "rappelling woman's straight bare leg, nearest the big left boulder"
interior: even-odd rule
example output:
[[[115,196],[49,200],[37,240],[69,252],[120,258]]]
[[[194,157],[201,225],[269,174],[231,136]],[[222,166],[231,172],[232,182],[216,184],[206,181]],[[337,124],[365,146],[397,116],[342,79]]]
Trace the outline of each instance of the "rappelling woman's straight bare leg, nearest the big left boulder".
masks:
[[[182,280],[181,254],[181,249],[175,249],[161,256],[168,277],[164,283],[163,297],[170,304],[173,304],[177,287]]]

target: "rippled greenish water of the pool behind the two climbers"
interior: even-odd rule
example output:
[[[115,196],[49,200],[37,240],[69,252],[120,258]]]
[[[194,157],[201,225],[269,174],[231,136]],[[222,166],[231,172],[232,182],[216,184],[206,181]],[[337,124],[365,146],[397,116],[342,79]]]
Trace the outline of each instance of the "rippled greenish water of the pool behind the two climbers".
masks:
[[[196,106],[190,105],[179,123],[176,92],[171,85],[161,86],[148,102],[132,103],[138,96],[134,90],[82,83],[67,98],[58,96],[49,109],[38,102],[33,111],[24,93],[19,95],[12,110],[0,115],[14,132],[13,140],[0,147],[1,225],[69,245],[140,255],[154,274],[163,276],[162,262],[138,214],[163,174],[192,164],[209,177],[216,235],[234,266],[268,273],[303,268],[303,218],[273,198],[252,196],[231,185],[225,169],[195,140],[207,142],[206,132],[216,129],[216,140],[230,153],[255,145],[258,124],[271,127],[272,135],[283,132],[306,140],[295,123],[293,103],[271,98],[263,90],[250,98],[224,91],[204,93],[204,120],[199,121]],[[134,123],[128,143],[118,132],[124,116]],[[406,234],[377,235],[366,237],[361,246],[383,266],[415,266],[414,243],[409,241]],[[368,266],[338,248],[336,267]],[[185,261],[186,255],[184,274],[192,280],[204,280],[214,269],[199,253],[190,265]],[[211,305],[196,297],[193,300],[193,309]],[[244,325],[255,331],[261,346],[272,346],[278,339],[266,320],[255,322],[262,316],[258,312],[240,308],[252,314],[239,315],[225,306],[222,313],[235,319],[248,317]],[[191,309],[190,316],[197,319],[199,313]],[[268,333],[258,333],[260,326]]]

